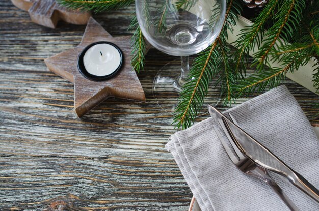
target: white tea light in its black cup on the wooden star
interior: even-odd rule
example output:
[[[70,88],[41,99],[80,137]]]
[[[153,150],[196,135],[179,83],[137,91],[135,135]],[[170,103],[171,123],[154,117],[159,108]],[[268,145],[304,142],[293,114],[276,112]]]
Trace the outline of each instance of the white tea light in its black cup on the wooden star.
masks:
[[[78,69],[90,80],[106,80],[116,75],[122,61],[123,54],[118,46],[110,42],[96,42],[81,52]]]

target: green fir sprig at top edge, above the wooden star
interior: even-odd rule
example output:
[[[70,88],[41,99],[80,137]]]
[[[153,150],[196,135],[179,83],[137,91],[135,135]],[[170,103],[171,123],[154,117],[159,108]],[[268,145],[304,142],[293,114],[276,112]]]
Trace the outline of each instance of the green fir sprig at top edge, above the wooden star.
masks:
[[[57,0],[62,6],[94,12],[116,10],[134,4],[134,0]]]

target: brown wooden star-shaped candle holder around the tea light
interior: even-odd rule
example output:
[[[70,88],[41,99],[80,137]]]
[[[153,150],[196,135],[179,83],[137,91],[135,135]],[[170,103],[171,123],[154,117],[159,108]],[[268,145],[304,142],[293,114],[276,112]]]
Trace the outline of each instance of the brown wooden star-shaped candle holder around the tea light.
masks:
[[[107,41],[117,45],[123,53],[120,71],[104,81],[92,81],[78,70],[79,54],[90,44]],[[46,66],[57,75],[74,83],[74,107],[78,117],[83,116],[108,97],[145,101],[141,83],[130,64],[130,36],[112,37],[93,18],[90,18],[81,43],[68,51],[45,59]]]

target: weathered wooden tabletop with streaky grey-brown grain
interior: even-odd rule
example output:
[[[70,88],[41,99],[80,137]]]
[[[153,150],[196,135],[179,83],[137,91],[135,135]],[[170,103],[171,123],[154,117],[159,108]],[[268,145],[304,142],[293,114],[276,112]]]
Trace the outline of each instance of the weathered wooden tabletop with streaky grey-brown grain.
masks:
[[[94,18],[113,36],[127,35],[133,9]],[[0,4],[0,210],[187,210],[192,193],[164,148],[176,129],[151,91],[156,70],[174,57],[148,53],[139,74],[146,103],[108,99],[79,119],[73,85],[43,60],[76,46],[84,29],[45,28],[9,0]],[[312,107],[318,96],[285,84],[319,123]],[[207,102],[218,96],[217,87]]]

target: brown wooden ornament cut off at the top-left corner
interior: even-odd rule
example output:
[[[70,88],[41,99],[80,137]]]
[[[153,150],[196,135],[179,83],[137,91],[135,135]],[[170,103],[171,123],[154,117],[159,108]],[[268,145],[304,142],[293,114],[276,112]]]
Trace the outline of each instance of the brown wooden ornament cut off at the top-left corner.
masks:
[[[11,0],[12,3],[29,12],[31,20],[39,25],[55,28],[59,20],[68,23],[87,24],[91,13],[71,10],[60,6],[56,0]]]

